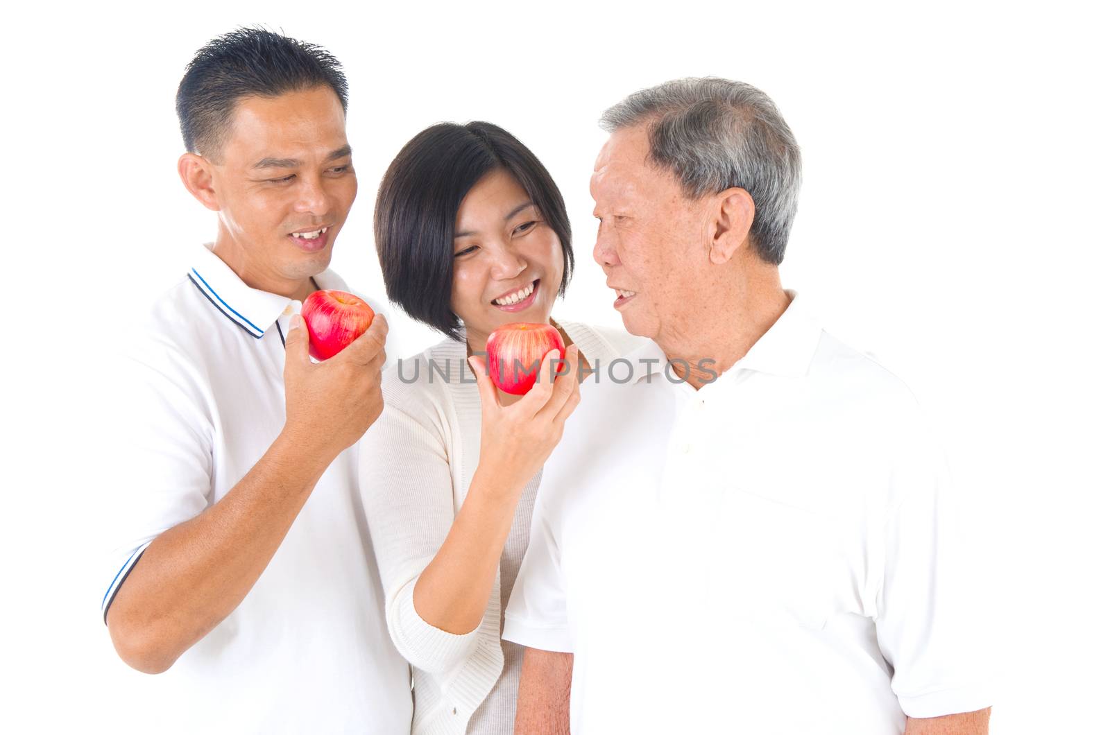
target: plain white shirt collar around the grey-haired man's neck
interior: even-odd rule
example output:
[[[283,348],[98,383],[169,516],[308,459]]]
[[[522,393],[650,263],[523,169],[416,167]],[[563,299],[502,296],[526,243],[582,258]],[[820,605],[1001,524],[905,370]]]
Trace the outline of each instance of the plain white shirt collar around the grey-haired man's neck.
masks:
[[[740,371],[751,370],[771,375],[800,377],[809,371],[809,363],[821,336],[821,325],[806,308],[806,302],[799,302],[796,290],[784,289],[784,291],[790,296],[786,311],[736,364],[725,371],[724,375],[736,375]],[[666,379],[662,373],[667,358],[655,342],[628,354],[626,359],[632,362],[629,382],[639,382],[654,373],[660,373],[658,377]]]

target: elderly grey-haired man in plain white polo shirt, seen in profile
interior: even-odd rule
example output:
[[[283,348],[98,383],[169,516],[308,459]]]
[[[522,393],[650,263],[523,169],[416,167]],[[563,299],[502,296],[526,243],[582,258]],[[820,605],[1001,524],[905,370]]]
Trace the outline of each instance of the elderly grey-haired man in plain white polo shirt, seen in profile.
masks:
[[[594,258],[653,340],[586,382],[504,636],[517,732],[987,732],[942,452],[783,261],[797,143],[753,87],[608,110]]]

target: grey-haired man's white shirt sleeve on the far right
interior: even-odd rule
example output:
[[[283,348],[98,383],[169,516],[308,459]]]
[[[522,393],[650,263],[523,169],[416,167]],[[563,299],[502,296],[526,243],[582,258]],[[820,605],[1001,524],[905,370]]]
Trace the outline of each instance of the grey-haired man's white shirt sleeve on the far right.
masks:
[[[938,717],[991,705],[992,646],[948,463],[919,410],[912,423],[892,472],[876,632],[902,712]]]

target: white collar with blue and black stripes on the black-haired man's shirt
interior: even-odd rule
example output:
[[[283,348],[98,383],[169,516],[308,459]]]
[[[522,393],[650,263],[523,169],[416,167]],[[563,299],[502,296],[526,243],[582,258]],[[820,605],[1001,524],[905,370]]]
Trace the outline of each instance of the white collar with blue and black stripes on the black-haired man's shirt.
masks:
[[[289,296],[252,289],[205,244],[195,255],[186,275],[212,306],[244,332],[259,340],[290,304]],[[321,289],[349,291],[346,283],[331,269],[313,276]]]

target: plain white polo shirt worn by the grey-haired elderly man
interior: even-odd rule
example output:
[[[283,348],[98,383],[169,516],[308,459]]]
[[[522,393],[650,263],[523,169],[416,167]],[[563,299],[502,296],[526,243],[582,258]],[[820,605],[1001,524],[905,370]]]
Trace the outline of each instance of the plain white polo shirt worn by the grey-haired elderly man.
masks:
[[[991,704],[921,409],[787,293],[700,391],[655,343],[585,382],[544,465],[504,637],[574,653],[576,735],[894,735]]]

